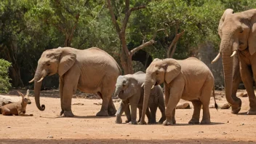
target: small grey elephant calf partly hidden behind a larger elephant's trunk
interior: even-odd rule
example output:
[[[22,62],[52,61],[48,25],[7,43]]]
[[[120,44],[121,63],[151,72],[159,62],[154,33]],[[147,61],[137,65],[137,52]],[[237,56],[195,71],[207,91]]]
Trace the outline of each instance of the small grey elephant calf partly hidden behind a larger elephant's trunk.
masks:
[[[137,108],[141,116],[143,108],[143,83],[145,81],[145,73],[139,71],[134,74],[119,76],[116,81],[116,90],[114,97],[118,95],[121,99],[119,110],[116,112],[116,123],[121,124],[121,114],[124,112],[127,116],[127,123],[137,124]],[[150,100],[147,108],[148,124],[156,124],[156,110],[159,107],[161,111],[161,119],[159,123],[165,120],[164,94],[160,86],[151,89]],[[132,116],[129,105],[131,105]],[[139,119],[140,121],[140,119]]]

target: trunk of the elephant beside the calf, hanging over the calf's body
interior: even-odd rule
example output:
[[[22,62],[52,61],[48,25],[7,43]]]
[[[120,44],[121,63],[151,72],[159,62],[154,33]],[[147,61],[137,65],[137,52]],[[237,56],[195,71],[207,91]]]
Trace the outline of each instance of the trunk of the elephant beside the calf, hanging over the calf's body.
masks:
[[[145,83],[144,83],[144,99],[143,99],[143,111],[140,118],[140,123],[145,124],[145,113],[148,108],[148,99],[151,93],[151,87],[156,81],[152,79],[151,73],[146,73]]]

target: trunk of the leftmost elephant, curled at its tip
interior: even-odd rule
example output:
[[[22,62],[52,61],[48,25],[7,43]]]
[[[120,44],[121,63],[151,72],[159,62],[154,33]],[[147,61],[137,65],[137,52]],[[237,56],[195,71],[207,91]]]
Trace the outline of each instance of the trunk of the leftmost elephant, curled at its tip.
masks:
[[[36,100],[36,107],[39,108],[40,111],[44,111],[45,105],[40,105],[40,90],[41,90],[41,78],[44,78],[47,75],[47,72],[44,71],[40,65],[36,68],[35,73],[35,84],[34,84],[34,92],[35,92],[35,100]]]

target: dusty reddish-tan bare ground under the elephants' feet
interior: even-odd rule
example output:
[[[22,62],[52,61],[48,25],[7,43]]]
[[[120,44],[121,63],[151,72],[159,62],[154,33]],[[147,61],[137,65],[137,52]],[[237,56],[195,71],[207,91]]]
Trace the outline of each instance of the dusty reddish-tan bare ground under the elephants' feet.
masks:
[[[22,91],[25,93],[25,90]],[[11,95],[17,95],[11,92]],[[225,103],[224,92],[217,91],[217,103]],[[96,117],[101,100],[74,97],[73,118],[58,116],[57,91],[41,92],[45,111],[36,108],[34,97],[27,106],[31,117],[0,115],[0,143],[256,143],[256,116],[248,116],[248,97],[241,97],[239,114],[230,109],[210,109],[212,124],[188,124],[193,109],[177,109],[173,126],[115,124],[115,116]],[[213,103],[213,100],[211,100]],[[84,105],[82,105],[84,104]],[[119,105],[115,103],[116,108]],[[202,112],[202,111],[201,111]],[[157,112],[157,119],[161,116]],[[123,121],[126,117],[122,116]]]

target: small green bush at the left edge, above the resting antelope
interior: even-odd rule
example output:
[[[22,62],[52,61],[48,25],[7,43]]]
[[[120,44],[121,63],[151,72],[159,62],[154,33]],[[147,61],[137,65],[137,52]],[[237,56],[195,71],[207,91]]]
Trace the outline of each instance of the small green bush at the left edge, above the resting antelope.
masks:
[[[6,60],[0,59],[0,93],[8,92],[11,84],[9,83],[8,70],[12,63]]]

